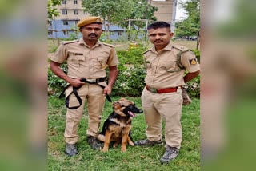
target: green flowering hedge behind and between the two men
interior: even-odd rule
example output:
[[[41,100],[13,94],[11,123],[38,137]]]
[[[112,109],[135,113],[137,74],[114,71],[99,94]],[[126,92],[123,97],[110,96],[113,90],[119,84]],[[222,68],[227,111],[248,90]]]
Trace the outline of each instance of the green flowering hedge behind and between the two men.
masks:
[[[129,50],[119,50],[117,52],[119,65],[118,65],[118,79],[112,89],[112,96],[121,97],[140,97],[142,89],[145,86],[144,78],[146,70],[143,66],[143,52],[146,48],[143,45],[129,48]],[[198,61],[200,60],[200,52],[194,51]],[[66,72],[66,63],[61,66]],[[106,71],[108,73],[108,70]],[[48,70],[48,87],[58,95],[66,86],[66,82],[55,76]],[[200,77],[186,84],[187,93],[190,97],[200,97]]]

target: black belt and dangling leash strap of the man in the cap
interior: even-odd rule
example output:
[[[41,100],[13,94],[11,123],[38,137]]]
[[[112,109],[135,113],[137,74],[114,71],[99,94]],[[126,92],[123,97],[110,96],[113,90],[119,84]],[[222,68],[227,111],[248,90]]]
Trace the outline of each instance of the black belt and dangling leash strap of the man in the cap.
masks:
[[[89,83],[89,84],[97,84],[99,85],[98,83],[99,82],[105,82],[105,78],[97,78],[97,79],[86,79],[86,78],[81,78],[80,79],[81,82],[86,82],[86,83]],[[105,86],[103,85],[99,85],[100,87],[102,87],[102,89],[105,89]],[[70,87],[70,84],[69,85],[66,85],[66,87],[63,89],[62,93],[59,95],[59,98],[62,98],[64,97],[64,93],[65,93],[65,90]],[[82,105],[82,99],[81,97],[79,97],[78,95],[78,89],[80,89],[82,86],[78,86],[78,87],[74,87],[73,86],[73,91],[66,97],[65,99],[65,105],[68,109],[78,109],[78,107],[80,107]],[[70,107],[69,104],[70,104],[70,95],[74,93],[74,96],[77,97],[78,99],[78,102],[79,102],[79,105],[78,106],[74,106],[74,107]],[[110,95],[108,95],[106,93],[106,99],[110,102],[111,101],[111,98],[110,98]]]

